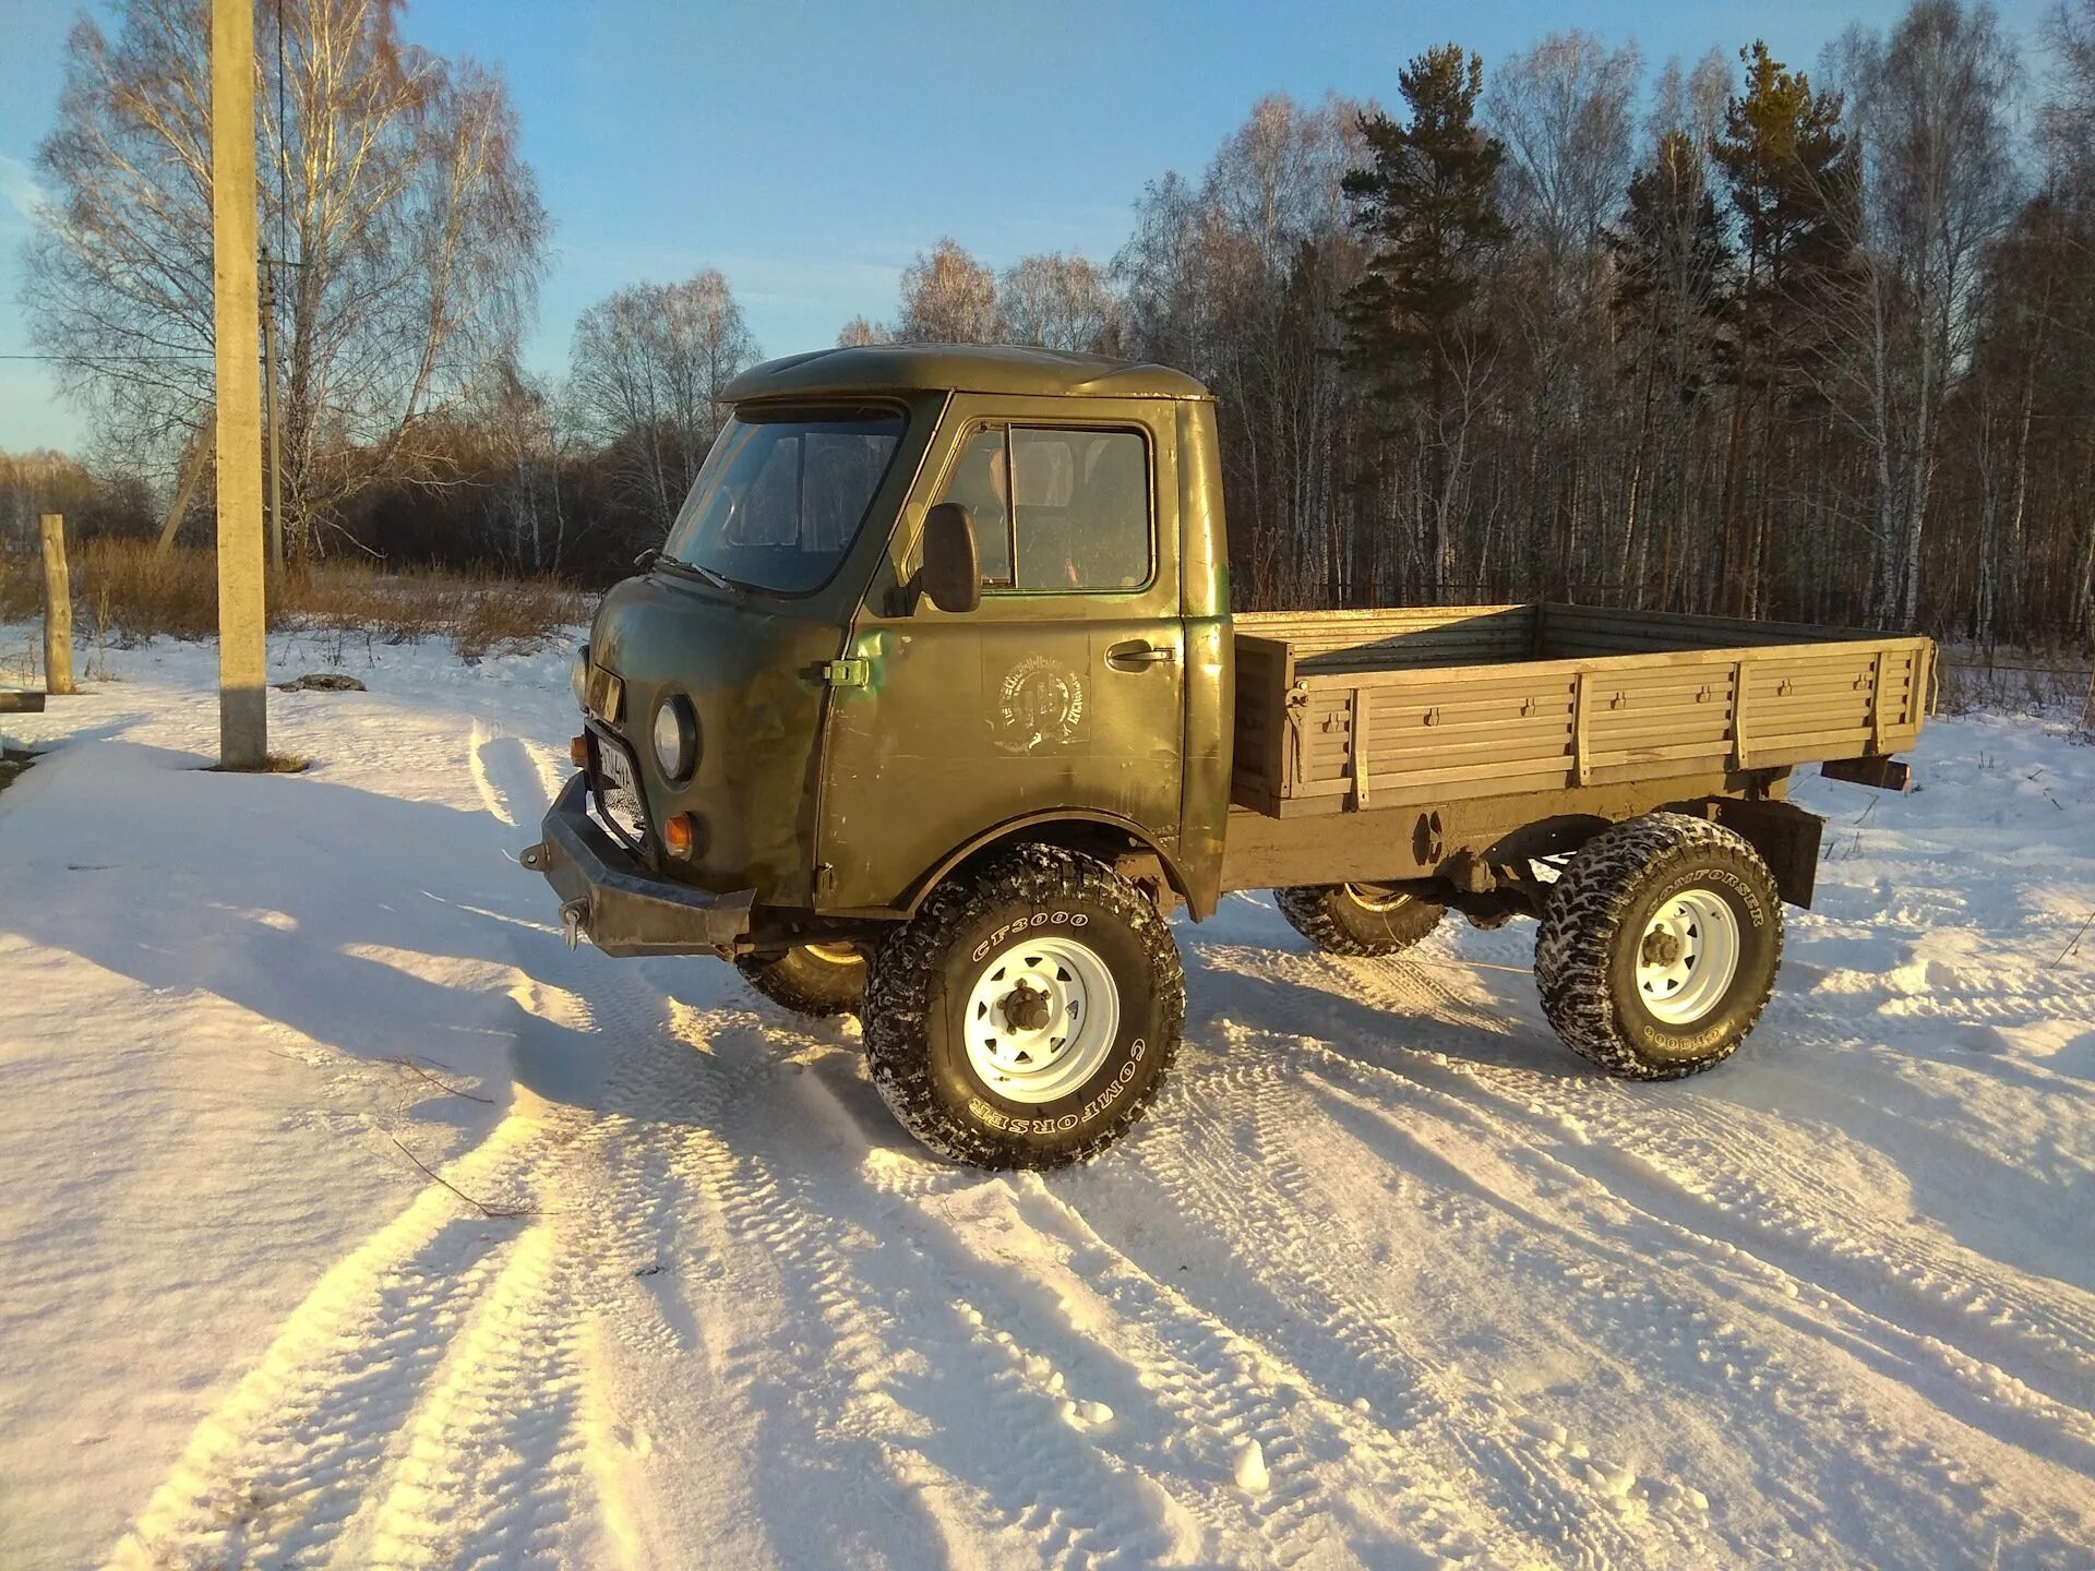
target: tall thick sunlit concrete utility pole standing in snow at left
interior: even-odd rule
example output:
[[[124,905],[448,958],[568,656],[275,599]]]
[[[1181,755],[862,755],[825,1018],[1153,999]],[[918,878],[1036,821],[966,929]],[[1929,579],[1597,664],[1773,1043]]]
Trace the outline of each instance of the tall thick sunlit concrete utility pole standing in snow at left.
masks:
[[[218,358],[218,765],[268,765],[262,388],[256,367],[256,13],[212,0],[212,320]]]

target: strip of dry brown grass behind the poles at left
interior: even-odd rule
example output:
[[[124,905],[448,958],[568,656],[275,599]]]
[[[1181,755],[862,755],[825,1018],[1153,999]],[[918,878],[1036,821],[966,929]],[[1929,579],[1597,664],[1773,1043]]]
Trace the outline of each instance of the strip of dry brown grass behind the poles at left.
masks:
[[[149,540],[96,538],[71,553],[75,639],[138,643],[218,633],[218,557]],[[44,610],[42,563],[0,555],[0,622]],[[272,574],[270,628],[318,633],[333,658],[354,645],[450,639],[465,660],[536,649],[585,618],[582,595],[553,578],[494,578],[432,570],[385,572],[369,561],[316,561]]]

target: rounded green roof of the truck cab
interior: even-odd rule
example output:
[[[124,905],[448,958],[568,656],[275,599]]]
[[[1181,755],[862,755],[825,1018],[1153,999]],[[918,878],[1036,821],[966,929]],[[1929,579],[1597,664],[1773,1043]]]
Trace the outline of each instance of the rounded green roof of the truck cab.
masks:
[[[995,392],[1083,398],[1207,398],[1184,371],[1102,354],[1012,344],[861,344],[765,360],[727,383],[723,398],[872,392]]]

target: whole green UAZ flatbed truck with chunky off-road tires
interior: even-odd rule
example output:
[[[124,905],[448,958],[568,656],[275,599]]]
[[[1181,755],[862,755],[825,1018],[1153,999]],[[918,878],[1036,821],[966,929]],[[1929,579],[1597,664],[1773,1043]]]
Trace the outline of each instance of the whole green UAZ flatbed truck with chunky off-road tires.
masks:
[[[1927,639],[1582,605],[1230,616],[1215,404],[1177,371],[880,346],[763,364],[576,658],[524,865],[570,943],[857,1012],[945,1156],[1081,1160],[1156,1098],[1169,915],[1322,949],[1540,917],[1563,1041],[1674,1079],[1751,1031],[1821,819],[1902,788]]]

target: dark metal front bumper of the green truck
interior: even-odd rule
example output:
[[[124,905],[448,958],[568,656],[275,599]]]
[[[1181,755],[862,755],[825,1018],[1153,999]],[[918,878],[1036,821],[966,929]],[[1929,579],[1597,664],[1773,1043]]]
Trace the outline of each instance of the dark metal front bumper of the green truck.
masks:
[[[587,936],[605,955],[733,953],[750,930],[756,890],[708,894],[645,871],[589,817],[589,777],[570,779],[520,861],[559,894],[572,949]]]

